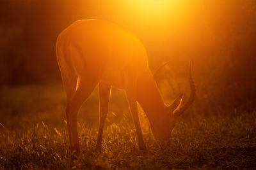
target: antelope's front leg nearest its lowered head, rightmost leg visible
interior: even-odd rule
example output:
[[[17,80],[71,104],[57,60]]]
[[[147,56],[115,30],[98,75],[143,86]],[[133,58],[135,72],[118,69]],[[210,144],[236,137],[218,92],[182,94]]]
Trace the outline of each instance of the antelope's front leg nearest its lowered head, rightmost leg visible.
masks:
[[[135,81],[136,82],[136,81]],[[129,102],[130,110],[132,113],[132,118],[134,121],[137,137],[138,137],[138,144],[140,150],[146,151],[146,145],[143,140],[142,132],[141,132],[141,127],[140,127],[140,120],[138,116],[138,106],[137,106],[137,100],[136,100],[136,83],[127,83],[127,89],[126,89],[126,95],[127,99]]]

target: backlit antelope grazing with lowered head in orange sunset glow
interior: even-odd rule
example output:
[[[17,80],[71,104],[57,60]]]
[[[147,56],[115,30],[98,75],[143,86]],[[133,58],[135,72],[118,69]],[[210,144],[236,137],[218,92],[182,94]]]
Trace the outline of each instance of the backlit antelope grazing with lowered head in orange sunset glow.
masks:
[[[189,69],[191,94],[179,107],[182,95],[170,106],[163,102],[148,67],[147,52],[130,32],[104,20],[77,20],[60,33],[56,55],[67,94],[67,125],[70,149],[79,155],[77,112],[99,84],[100,122],[96,149],[101,150],[104,122],[111,86],[124,89],[134,120],[138,145],[146,150],[138,118],[137,101],[145,111],[155,138],[170,138],[175,120],[195,99],[195,85]]]

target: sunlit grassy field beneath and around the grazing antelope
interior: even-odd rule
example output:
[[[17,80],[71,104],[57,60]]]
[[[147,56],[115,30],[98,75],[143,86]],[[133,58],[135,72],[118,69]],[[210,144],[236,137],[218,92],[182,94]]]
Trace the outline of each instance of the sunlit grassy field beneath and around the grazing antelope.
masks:
[[[255,112],[203,118],[190,111],[160,148],[140,110],[143,154],[124,92],[114,89],[99,155],[95,91],[78,115],[81,157],[71,160],[61,85],[3,87],[0,102],[0,169],[256,169]]]

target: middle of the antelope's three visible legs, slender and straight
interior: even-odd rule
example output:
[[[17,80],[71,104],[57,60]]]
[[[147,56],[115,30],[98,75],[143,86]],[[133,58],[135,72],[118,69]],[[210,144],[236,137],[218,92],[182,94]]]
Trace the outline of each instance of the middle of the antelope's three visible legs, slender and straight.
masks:
[[[108,113],[109,94],[111,86],[105,83],[99,84],[99,105],[100,105],[100,124],[97,138],[97,144],[95,149],[101,152],[101,141],[104,129],[104,122]]]

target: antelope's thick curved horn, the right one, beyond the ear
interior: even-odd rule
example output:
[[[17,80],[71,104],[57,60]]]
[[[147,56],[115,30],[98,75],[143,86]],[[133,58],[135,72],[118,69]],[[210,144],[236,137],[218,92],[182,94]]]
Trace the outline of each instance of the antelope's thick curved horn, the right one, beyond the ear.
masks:
[[[193,103],[196,97],[196,87],[191,76],[191,61],[189,62],[189,85],[190,85],[190,96],[186,104],[180,107],[179,109],[175,110],[173,113],[174,118],[178,118],[185,110],[189,108],[189,106]]]

